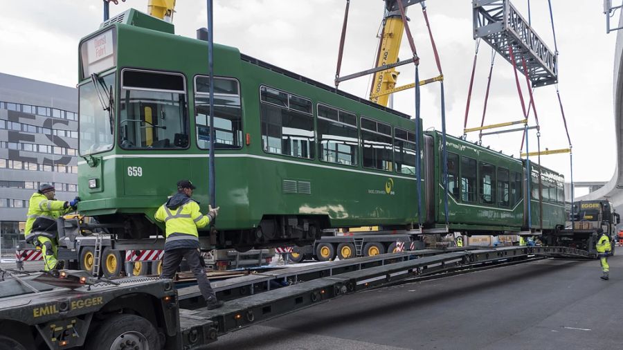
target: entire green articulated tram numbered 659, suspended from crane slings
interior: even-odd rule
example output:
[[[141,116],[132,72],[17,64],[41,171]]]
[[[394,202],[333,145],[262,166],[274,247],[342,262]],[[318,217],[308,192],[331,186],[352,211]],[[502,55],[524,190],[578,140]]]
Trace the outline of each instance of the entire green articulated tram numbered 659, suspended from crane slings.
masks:
[[[325,228],[363,225],[467,234],[539,227],[538,190],[532,223],[525,219],[521,160],[449,137],[446,223],[439,133],[228,46],[214,47],[211,133],[207,56],[205,41],[134,9],[80,41],[79,211],[116,237],[161,233],[154,212],[183,178],[207,210],[210,134],[221,210],[215,230],[200,234],[216,248],[305,245]],[[563,182],[541,173],[543,230],[554,230],[564,223]]]

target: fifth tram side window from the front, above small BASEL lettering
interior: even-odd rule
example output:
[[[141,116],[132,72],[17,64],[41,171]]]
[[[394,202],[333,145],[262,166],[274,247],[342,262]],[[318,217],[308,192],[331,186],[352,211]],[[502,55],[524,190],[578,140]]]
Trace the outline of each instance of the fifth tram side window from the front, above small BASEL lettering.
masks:
[[[392,127],[376,120],[361,118],[363,167],[391,172]]]

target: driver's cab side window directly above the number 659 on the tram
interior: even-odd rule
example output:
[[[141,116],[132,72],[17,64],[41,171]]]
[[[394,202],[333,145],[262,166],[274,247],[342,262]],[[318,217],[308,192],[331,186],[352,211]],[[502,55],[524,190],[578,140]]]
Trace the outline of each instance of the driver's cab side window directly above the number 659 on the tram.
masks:
[[[121,147],[188,148],[184,76],[177,73],[124,69],[121,79]]]

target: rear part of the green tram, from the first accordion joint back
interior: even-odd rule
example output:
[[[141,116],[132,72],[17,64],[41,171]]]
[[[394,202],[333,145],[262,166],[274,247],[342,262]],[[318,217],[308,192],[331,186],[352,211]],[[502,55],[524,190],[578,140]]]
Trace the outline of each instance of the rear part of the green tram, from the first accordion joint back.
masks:
[[[437,131],[424,133],[424,222],[427,226],[436,228],[445,226],[441,139],[442,135]],[[549,234],[564,228],[564,178],[560,174],[545,167],[541,167],[539,174],[539,165],[530,163],[531,215],[528,216],[525,200],[525,160],[506,156],[452,136],[446,136],[446,150],[449,208],[447,227],[450,231],[489,234],[532,229]]]

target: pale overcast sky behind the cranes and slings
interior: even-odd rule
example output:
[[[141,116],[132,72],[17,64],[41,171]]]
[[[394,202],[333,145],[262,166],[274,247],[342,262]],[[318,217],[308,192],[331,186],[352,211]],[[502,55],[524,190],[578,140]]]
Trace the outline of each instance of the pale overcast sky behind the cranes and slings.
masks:
[[[333,85],[345,0],[214,0],[215,42],[276,64],[314,80]],[[527,18],[527,0],[512,1]],[[554,49],[548,1],[531,2],[532,26]],[[573,3],[573,5],[571,5]],[[613,131],[613,58],[616,33],[606,35],[601,1],[552,0],[559,50],[559,89],[574,150],[575,181],[608,181],[615,169]],[[471,1],[428,0],[428,17],[441,57],[446,89],[447,131],[460,136],[475,42]],[[111,4],[111,17],[130,6],[147,12],[147,0]],[[99,0],[21,0],[3,8],[0,21],[0,71],[12,75],[75,86],[78,79],[78,41],[102,21]],[[173,23],[176,33],[195,37],[207,26],[206,1],[178,0]],[[371,68],[378,44],[383,1],[351,1],[342,75]],[[410,28],[421,57],[420,77],[437,75],[422,9],[408,10]],[[406,39],[401,59],[410,57]],[[480,125],[491,49],[480,45],[468,127]],[[412,66],[399,68],[399,85],[413,82]],[[512,66],[497,57],[485,125],[523,119]],[[527,101],[525,82],[523,93]],[[370,80],[361,77],[340,88],[365,98]],[[541,148],[568,147],[555,86],[535,91],[541,123]],[[414,91],[395,94],[394,108],[414,114]],[[422,88],[424,127],[440,129],[439,84]],[[534,125],[531,113],[530,125]],[[476,140],[477,133],[468,139]],[[521,133],[485,136],[484,145],[518,156]],[[530,150],[536,150],[532,133]],[[570,178],[568,154],[543,156],[543,165]],[[536,160],[536,158],[534,158]]]

